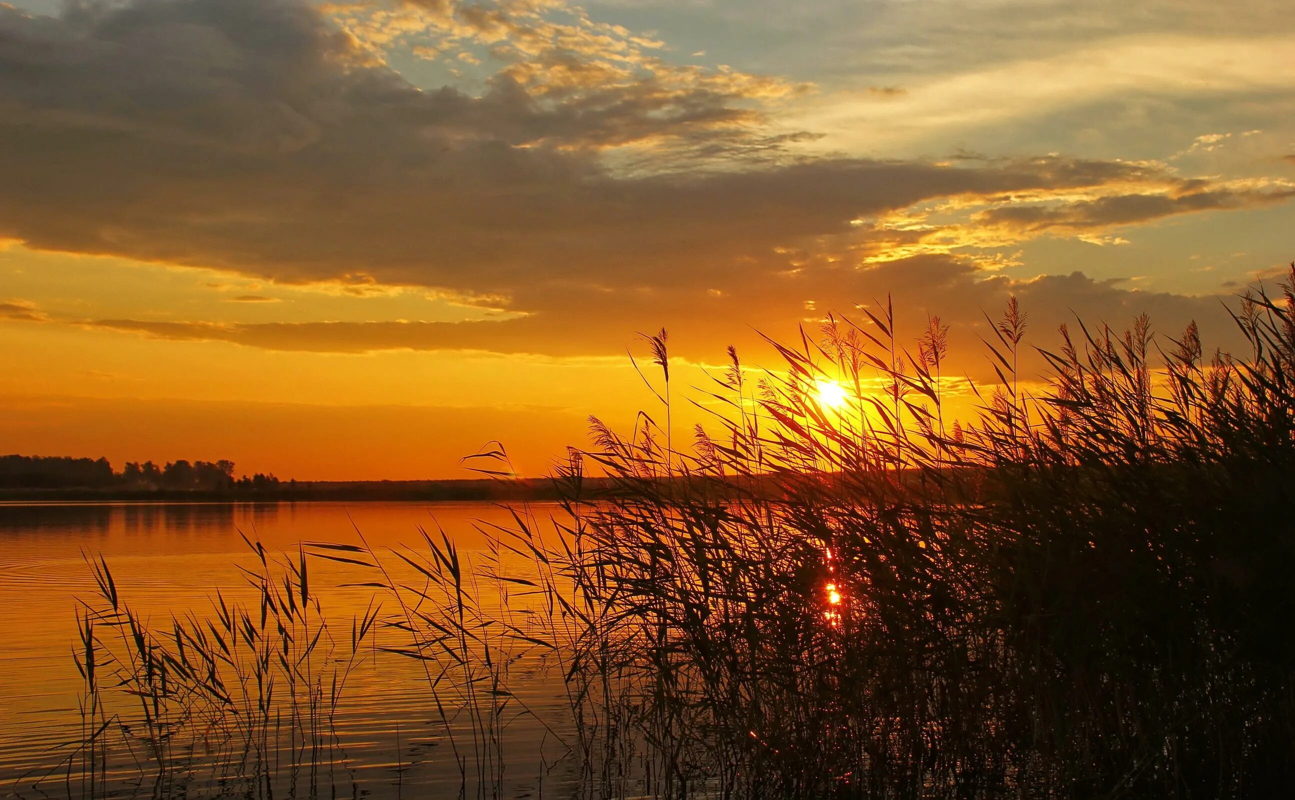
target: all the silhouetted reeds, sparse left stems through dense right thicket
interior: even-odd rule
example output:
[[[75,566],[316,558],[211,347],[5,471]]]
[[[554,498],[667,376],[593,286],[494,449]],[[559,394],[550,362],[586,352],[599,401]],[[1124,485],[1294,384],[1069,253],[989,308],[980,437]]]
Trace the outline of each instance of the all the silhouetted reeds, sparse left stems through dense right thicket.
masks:
[[[1295,779],[1295,265],[1234,312],[1248,353],[1207,360],[1195,325],[1079,324],[1036,350],[1033,394],[1013,300],[971,419],[944,408],[947,328],[930,320],[910,350],[883,308],[771,340],[773,370],[730,348],[702,390],[721,410],[688,441],[668,422],[667,338],[646,337],[660,413],[627,432],[592,421],[594,445],[554,475],[563,514],[518,506],[475,557],[426,531],[417,549],[304,545],[280,583],[254,579],[259,623],[221,602],[216,624],[168,637],[118,605],[98,562],[106,605],[87,606],[78,645],[87,786],[111,722],[105,664],[140,700],[137,757],[159,774],[199,718],[264,764],[272,689],[294,698],[294,752],[316,756],[341,694],[308,667],[329,632],[307,612],[313,555],[370,572],[381,602],[342,651],[376,637],[421,665],[464,796],[505,794],[523,717],[576,765],[563,792],[591,797],[1279,795]],[[820,400],[825,381],[844,403]],[[510,474],[501,448],[484,460]],[[561,713],[518,691],[545,671]]]

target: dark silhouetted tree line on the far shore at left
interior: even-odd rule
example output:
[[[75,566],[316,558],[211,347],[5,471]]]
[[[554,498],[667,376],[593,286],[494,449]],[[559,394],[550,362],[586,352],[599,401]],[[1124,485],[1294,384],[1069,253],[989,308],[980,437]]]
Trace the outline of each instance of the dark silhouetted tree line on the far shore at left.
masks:
[[[114,471],[107,458],[67,456],[0,456],[0,488],[5,489],[136,489],[231,492],[278,488],[273,474],[255,472],[234,478],[234,462],[128,461]],[[295,483],[295,482],[294,482]]]

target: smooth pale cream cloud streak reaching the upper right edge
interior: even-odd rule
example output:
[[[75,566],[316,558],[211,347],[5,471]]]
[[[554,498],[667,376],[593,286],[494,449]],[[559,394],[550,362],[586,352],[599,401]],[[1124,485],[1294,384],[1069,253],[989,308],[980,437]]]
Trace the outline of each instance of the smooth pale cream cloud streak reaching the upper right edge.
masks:
[[[979,10],[980,4],[975,8]],[[988,27],[982,21],[976,32]],[[1011,35],[1022,30],[1019,25],[1009,27]],[[956,31],[941,32],[957,38]],[[894,148],[951,135],[965,140],[975,131],[1002,139],[1005,133],[1015,133],[1005,131],[1011,123],[1019,126],[1024,120],[1094,127],[1092,109],[1102,102],[1115,102],[1120,109],[1124,107],[1120,104],[1177,105],[1184,98],[1213,105],[1237,97],[1243,101],[1234,111],[1239,117],[1248,107],[1244,101],[1267,97],[1279,104],[1295,88],[1295,65],[1290,58],[1295,36],[1289,26],[1244,35],[1204,31],[1120,35],[1119,30],[1110,30],[1092,41],[1058,38],[1053,32],[1032,44],[1014,39],[992,50],[976,50],[962,40],[956,48],[941,47],[956,50],[954,58],[966,56],[976,61],[944,65],[944,70],[936,71],[930,63],[913,65],[912,72],[883,71],[908,89],[906,96],[884,104],[875,102],[875,94],[866,88],[820,92],[802,104],[789,124],[825,133],[824,148]],[[921,50],[908,43],[908,49],[925,56],[935,48]],[[1076,117],[1057,119],[1076,110]],[[1101,128],[1115,120],[1103,122]],[[1145,119],[1141,122],[1146,124]],[[1055,136],[1054,131],[1049,133]]]

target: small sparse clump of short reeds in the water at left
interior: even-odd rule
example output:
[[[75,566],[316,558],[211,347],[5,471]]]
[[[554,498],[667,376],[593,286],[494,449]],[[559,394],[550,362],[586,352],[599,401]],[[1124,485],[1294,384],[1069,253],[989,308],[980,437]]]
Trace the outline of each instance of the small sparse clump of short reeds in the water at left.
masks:
[[[154,796],[184,791],[201,768],[225,791],[241,786],[256,797],[285,782],[311,794],[339,782],[334,715],[379,607],[338,641],[311,590],[306,551],[276,562],[259,541],[247,544],[258,566],[242,568],[253,603],[218,590],[210,616],[190,611],[162,628],[119,595],[102,558],[87,558],[98,592],[78,612],[83,739],[65,761],[69,794],[74,777],[83,796],[119,790],[109,782],[113,756],[114,772],[133,773]]]

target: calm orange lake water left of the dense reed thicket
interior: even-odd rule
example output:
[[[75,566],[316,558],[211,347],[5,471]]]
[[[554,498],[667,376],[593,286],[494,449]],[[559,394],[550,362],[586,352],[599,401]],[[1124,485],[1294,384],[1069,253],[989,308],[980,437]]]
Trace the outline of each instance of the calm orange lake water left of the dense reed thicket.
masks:
[[[559,514],[557,506],[532,510],[539,519]],[[150,625],[168,630],[171,615],[210,616],[218,589],[227,598],[251,597],[240,566],[258,564],[240,532],[272,553],[295,554],[302,541],[357,544],[356,531],[374,549],[408,545],[426,551],[421,526],[438,540],[443,529],[461,557],[475,562],[487,546],[478,526],[510,520],[506,509],[453,502],[0,504],[0,792],[80,796],[66,759],[69,743],[82,735],[83,682],[73,658],[78,598],[97,594],[87,555],[102,555],[123,601]],[[325,619],[342,620],[346,638],[350,619],[363,614],[374,589],[343,584],[370,579],[357,575],[360,567],[321,559],[311,559],[310,571]],[[574,782],[559,722],[539,721],[561,720],[566,703],[562,682],[541,667],[518,659],[512,671],[509,689],[530,713],[509,717],[504,728],[500,748],[512,753],[505,796],[562,794]],[[346,686],[326,774],[312,773],[308,781],[277,775],[280,783],[265,794],[457,795],[461,761],[453,753],[465,746],[451,742],[439,720],[423,665],[374,652]],[[455,726],[466,730],[467,722],[456,718]],[[102,791],[153,794],[153,779],[131,764],[128,748],[118,751],[110,756]],[[208,769],[186,777],[184,791],[221,794],[229,791],[225,778]]]

